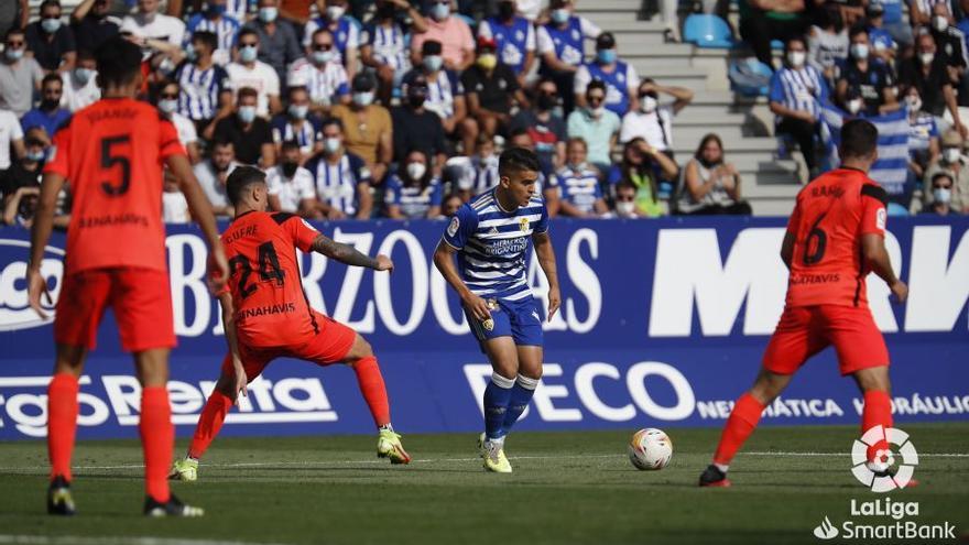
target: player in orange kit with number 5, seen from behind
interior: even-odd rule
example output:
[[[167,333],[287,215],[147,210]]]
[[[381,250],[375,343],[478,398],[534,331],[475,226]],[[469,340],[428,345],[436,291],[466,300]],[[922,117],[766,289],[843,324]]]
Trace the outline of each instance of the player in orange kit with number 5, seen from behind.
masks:
[[[47,386],[52,466],[47,512],[75,513],[70,455],[77,428],[78,377],[87,351],[95,348],[105,309],[111,307],[121,346],[134,355],[142,386],[139,432],[144,449],[144,513],[198,516],[203,511],[178,501],[165,479],[175,444],[165,388],[175,331],[162,225],[163,164],[178,179],[192,216],[208,239],[213,261],[228,273],[226,255],[211,207],[192,173],[175,127],[153,106],[134,100],[142,81],[141,50],[127,40],[112,39],[98,48],[97,63],[104,98],[76,112],[54,135],[56,151],[44,167],[26,274],[30,305],[46,317],[41,294],[46,295],[47,280],[40,265],[57,195],[68,183],[74,205],[64,284],[54,318],[57,356]]]

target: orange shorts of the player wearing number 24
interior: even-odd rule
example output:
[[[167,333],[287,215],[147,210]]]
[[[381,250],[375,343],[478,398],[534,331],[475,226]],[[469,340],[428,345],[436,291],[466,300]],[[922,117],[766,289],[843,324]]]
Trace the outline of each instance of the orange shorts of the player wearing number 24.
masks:
[[[295,358],[306,360],[317,366],[339,363],[346,359],[347,353],[353,347],[357,331],[340,324],[339,321],[311,310],[319,334],[314,335],[306,342],[290,347],[260,347],[252,348],[239,344],[239,355],[242,357],[242,367],[246,369],[246,378],[249,382],[259,377],[270,361],[276,358]],[[232,371],[232,358],[226,355],[222,360],[222,374],[235,375]]]

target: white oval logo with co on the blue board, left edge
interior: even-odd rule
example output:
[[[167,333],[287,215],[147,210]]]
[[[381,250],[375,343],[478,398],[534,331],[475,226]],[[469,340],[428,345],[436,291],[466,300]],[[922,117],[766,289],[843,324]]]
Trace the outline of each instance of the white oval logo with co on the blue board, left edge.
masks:
[[[26,260],[30,242],[0,239],[0,331],[26,329],[47,324],[29,305],[26,298]],[[44,251],[41,273],[47,280],[51,298],[56,302],[64,277],[64,250],[48,246]],[[51,281],[54,281],[53,284]],[[53,306],[41,297],[41,305],[53,315]]]

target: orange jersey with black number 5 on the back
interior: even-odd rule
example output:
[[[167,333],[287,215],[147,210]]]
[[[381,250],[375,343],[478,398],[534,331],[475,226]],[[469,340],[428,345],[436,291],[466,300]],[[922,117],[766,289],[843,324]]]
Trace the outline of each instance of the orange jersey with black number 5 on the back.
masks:
[[[67,272],[167,271],[162,164],[185,155],[172,122],[148,102],[101,99],[57,130],[53,154],[44,172],[64,176],[73,198]]]

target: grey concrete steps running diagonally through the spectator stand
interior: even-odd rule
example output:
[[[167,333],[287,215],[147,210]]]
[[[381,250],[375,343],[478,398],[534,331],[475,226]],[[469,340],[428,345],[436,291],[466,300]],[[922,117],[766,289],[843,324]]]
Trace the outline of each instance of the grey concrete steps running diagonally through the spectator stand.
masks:
[[[681,164],[693,156],[704,134],[723,140],[728,161],[743,179],[744,197],[759,216],[786,216],[801,188],[798,165],[776,159],[773,116],[764,99],[734,98],[727,79],[731,53],[699,50],[689,44],[667,44],[664,26],[641,17],[642,0],[579,0],[577,12],[616,35],[620,58],[642,77],[662,85],[687,87],[694,102],[676,117],[674,151]],[[595,47],[587,44],[587,53]]]

